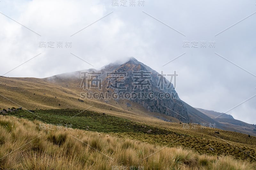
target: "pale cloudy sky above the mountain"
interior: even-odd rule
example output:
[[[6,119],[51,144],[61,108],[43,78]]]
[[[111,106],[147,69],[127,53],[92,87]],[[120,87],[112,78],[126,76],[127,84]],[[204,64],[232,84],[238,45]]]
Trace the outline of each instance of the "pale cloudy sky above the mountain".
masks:
[[[191,106],[255,124],[255,0],[133,1],[1,0],[0,74],[44,78],[133,56],[176,70]]]

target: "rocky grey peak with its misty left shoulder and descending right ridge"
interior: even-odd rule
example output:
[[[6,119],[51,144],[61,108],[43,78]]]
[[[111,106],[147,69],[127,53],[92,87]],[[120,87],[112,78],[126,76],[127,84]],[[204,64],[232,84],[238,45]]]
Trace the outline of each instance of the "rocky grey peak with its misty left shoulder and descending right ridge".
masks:
[[[175,73],[171,77],[174,80]],[[71,80],[73,82],[80,80],[81,88],[84,90],[83,99],[91,99],[93,94],[102,93],[101,99],[109,103],[111,100],[115,102],[129,100],[152,113],[168,115],[177,118],[180,122],[205,123],[207,126],[214,124],[216,128],[225,129],[219,122],[182,101],[172,82],[165,76],[133,57],[122,64],[111,63],[99,70],[81,70],[52,76],[45,80],[62,82],[67,86],[69,86],[67,82]]]

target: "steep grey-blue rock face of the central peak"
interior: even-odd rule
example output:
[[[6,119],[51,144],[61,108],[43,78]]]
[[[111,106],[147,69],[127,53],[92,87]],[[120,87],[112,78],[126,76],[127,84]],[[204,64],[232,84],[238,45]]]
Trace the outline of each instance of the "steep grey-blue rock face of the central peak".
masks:
[[[103,82],[105,82],[102,83],[103,85],[107,85],[109,93],[116,93],[120,98],[125,96],[126,99],[139,103],[150,112],[170,115],[181,122],[189,122],[186,107],[173,84],[134,58],[107,74]]]

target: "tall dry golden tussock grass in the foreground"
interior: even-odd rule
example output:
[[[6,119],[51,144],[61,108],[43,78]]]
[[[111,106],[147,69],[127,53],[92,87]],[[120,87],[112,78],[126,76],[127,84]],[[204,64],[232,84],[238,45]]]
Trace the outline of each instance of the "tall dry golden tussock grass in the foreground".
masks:
[[[145,144],[77,129],[39,128],[39,121],[0,118],[2,169],[255,169],[229,156],[199,155],[181,147]]]

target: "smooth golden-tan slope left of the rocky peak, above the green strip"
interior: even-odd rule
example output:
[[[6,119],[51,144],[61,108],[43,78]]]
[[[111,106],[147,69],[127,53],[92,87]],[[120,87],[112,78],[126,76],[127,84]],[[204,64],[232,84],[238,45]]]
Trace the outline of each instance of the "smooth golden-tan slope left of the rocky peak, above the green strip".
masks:
[[[163,122],[153,118],[152,113],[137,103],[124,100],[117,103],[110,100],[108,103],[104,100],[84,100],[78,101],[80,92],[79,87],[81,80],[72,79],[67,82],[48,82],[39,78],[7,78],[0,76],[0,107],[1,108],[18,108],[24,109],[88,109],[98,113],[107,113],[118,117],[129,118],[140,122],[152,122],[158,124]],[[55,98],[56,97],[56,98]],[[133,109],[127,108],[125,102],[130,102]],[[59,106],[60,104],[60,106]],[[167,116],[172,120],[177,119]]]

